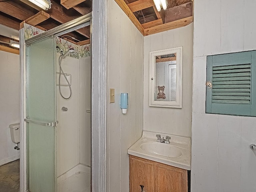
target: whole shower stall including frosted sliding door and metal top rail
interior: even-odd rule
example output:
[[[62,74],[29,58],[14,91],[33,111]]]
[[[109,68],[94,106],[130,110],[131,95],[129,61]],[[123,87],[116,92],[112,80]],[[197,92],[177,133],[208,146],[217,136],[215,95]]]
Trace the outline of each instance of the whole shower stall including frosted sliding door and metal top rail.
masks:
[[[91,191],[90,50],[60,38],[90,19],[31,38],[20,30],[21,192]]]

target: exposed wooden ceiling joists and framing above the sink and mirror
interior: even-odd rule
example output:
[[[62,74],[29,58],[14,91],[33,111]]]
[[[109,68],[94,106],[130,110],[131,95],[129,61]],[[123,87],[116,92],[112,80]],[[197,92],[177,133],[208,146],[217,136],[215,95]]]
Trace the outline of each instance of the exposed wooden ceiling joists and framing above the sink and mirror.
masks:
[[[115,1],[144,36],[193,22],[193,0],[167,0],[167,9],[160,12],[153,0]]]

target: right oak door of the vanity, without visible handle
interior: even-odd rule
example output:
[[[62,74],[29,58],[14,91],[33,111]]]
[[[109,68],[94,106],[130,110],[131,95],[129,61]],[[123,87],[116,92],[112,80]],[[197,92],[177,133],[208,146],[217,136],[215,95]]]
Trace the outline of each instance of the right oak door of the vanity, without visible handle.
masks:
[[[155,192],[187,192],[188,175],[187,171],[164,165],[155,164]]]

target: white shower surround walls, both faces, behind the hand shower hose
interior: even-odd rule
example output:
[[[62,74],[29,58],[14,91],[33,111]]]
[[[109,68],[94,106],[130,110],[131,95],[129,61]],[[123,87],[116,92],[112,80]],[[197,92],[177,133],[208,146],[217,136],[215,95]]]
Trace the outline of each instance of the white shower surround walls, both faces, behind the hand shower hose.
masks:
[[[59,72],[56,54],[56,70]],[[61,63],[64,73],[71,74],[72,96],[65,100],[57,86],[57,175],[78,164],[90,166],[90,57],[66,56]],[[58,82],[58,75],[56,76]],[[68,86],[61,86],[62,95],[69,96]],[[62,107],[68,108],[63,112]]]

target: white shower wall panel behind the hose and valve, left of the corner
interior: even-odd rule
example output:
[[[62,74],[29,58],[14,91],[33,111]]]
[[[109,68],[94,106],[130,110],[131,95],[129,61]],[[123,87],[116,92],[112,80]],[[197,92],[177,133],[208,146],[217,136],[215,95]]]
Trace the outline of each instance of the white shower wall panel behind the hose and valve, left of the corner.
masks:
[[[56,54],[56,58],[60,54]],[[56,70],[59,72],[58,61]],[[80,71],[79,59],[66,56],[61,67],[64,73],[71,74],[72,96],[65,100],[60,96],[57,86],[57,174],[64,174],[80,163]],[[58,75],[57,75],[58,83]],[[64,97],[70,95],[68,86],[61,86]],[[62,107],[68,108],[62,111]]]

